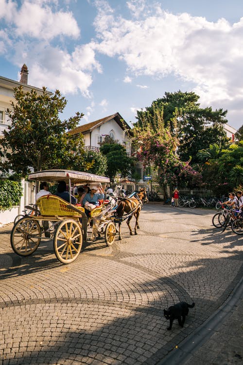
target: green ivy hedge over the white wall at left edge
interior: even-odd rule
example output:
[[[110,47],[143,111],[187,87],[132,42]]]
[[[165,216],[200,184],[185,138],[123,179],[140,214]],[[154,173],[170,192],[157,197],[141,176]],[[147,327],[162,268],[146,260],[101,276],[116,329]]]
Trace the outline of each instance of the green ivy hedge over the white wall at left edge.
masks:
[[[19,205],[22,194],[21,182],[7,179],[0,180],[0,211],[6,211]]]

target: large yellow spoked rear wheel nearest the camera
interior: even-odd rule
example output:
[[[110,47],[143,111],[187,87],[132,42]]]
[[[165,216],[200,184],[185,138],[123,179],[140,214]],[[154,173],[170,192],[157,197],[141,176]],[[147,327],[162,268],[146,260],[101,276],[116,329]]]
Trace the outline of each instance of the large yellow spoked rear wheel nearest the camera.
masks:
[[[63,264],[70,264],[82,248],[82,229],[75,219],[65,219],[56,229],[53,239],[54,252]]]

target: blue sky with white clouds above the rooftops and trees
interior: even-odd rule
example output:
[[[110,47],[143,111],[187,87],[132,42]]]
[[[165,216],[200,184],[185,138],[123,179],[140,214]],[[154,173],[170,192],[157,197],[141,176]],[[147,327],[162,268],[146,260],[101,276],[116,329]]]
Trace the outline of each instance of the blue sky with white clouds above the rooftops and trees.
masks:
[[[136,111],[165,92],[243,124],[242,0],[0,0],[0,76],[59,89],[61,118]]]

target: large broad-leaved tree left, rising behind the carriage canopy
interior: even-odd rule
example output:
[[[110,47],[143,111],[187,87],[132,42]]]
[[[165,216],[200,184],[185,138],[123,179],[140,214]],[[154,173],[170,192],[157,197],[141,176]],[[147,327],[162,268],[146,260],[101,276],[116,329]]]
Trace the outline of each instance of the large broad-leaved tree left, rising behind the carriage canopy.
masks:
[[[4,131],[3,152],[7,161],[2,169],[26,176],[34,171],[54,168],[72,169],[83,162],[83,137],[71,136],[68,130],[77,126],[83,114],[76,113],[61,121],[67,101],[58,90],[50,95],[46,88],[24,93],[22,86],[14,89],[15,102],[7,113],[12,125]],[[11,151],[11,152],[10,152]]]

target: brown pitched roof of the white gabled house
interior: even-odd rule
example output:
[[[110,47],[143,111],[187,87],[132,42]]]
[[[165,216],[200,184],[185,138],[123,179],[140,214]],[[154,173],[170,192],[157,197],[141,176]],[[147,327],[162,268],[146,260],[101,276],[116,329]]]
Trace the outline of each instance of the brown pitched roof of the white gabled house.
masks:
[[[131,127],[126,123],[122,116],[119,113],[115,113],[113,115],[105,116],[102,119],[95,120],[94,122],[86,123],[77,128],[74,128],[73,130],[69,131],[69,134],[86,134],[88,132],[92,132],[95,128],[100,127],[102,124],[108,122],[111,119],[114,119],[122,130],[125,130],[125,128],[131,129]]]

